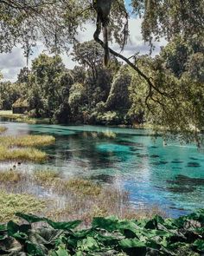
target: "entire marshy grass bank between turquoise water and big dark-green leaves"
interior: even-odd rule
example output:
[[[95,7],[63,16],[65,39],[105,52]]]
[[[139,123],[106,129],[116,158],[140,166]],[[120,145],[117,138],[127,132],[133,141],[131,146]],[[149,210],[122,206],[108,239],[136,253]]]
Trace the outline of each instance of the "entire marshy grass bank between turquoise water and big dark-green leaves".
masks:
[[[102,187],[85,179],[66,179],[51,169],[1,170],[0,190],[3,195],[0,197],[0,222],[13,220],[15,213],[22,209],[24,213],[38,213],[56,221],[80,219],[85,226],[97,216],[115,215],[127,219],[150,218],[156,213],[165,216],[158,207],[132,207],[129,194],[117,187]]]

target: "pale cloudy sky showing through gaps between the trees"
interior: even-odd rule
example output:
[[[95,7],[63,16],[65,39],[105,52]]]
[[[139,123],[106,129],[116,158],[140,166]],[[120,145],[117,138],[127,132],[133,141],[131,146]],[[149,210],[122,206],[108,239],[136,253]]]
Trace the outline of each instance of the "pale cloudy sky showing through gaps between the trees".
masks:
[[[131,0],[125,0],[125,3],[128,4]],[[129,8],[129,7],[128,7]],[[150,48],[147,44],[143,43],[142,35],[141,35],[141,19],[136,19],[131,17],[129,22],[129,29],[130,29],[130,38],[128,43],[124,47],[123,55],[128,57],[132,56],[137,51],[140,54],[149,54]],[[86,23],[86,30],[83,32],[79,32],[78,39],[80,42],[85,42],[92,40],[92,35],[94,33],[95,27],[92,23]],[[162,40],[160,43],[156,43],[156,50],[154,51],[153,55],[156,55],[160,47],[165,45],[166,42]],[[120,51],[118,45],[116,43],[112,43],[112,49],[116,51]],[[39,56],[41,52],[45,52],[48,54],[42,45],[41,42],[36,44],[36,47],[33,49],[33,55],[29,57],[29,66],[32,63],[32,60],[35,57]],[[61,54],[62,60],[65,63],[67,69],[73,69],[76,62],[72,61],[72,56],[67,56],[67,54]],[[11,81],[15,82],[17,78],[17,74],[19,73],[20,69],[26,66],[26,58],[23,56],[23,50],[21,46],[15,47],[10,54],[0,54],[0,72],[3,74],[3,81]]]

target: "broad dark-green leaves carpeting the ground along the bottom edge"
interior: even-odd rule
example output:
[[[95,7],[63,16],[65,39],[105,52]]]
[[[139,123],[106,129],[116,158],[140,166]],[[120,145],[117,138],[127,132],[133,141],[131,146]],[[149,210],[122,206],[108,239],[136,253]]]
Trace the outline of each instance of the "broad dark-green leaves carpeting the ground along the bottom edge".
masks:
[[[178,219],[156,215],[149,220],[93,218],[92,226],[76,229],[80,220],[54,222],[16,213],[22,225],[10,220],[0,226],[2,255],[202,255],[204,210]],[[37,226],[42,222],[46,226]]]

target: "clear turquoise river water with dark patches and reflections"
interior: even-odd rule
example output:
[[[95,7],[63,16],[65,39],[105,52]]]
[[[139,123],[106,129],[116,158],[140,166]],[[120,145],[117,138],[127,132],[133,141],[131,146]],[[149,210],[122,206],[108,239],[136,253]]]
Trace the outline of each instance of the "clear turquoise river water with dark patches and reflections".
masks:
[[[204,206],[204,152],[195,145],[164,146],[151,130],[3,123],[9,135],[54,135],[56,143],[43,148],[46,166],[124,188],[135,207],[156,205],[177,217]]]

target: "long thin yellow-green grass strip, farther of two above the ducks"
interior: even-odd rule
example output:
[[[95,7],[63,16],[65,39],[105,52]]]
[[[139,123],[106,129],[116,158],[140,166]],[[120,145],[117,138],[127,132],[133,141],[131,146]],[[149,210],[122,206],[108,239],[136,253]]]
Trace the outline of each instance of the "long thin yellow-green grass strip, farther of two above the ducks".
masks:
[[[55,142],[51,135],[22,135],[0,137],[0,144],[5,147],[36,147],[47,146]]]

